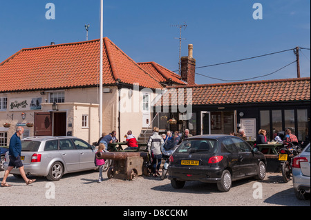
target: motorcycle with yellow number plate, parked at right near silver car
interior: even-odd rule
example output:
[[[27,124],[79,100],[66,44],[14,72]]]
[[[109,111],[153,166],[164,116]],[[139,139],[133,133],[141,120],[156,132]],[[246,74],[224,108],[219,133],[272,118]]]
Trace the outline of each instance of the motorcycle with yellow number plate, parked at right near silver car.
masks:
[[[281,161],[282,176],[285,183],[290,181],[292,175],[292,160],[301,152],[299,143],[285,143],[279,150],[279,161]]]

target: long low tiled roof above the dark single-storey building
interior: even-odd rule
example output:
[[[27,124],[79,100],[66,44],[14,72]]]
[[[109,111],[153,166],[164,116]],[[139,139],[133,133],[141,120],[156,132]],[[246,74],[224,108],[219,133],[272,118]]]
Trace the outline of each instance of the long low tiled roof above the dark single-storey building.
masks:
[[[171,93],[171,98],[162,98],[162,105],[176,105],[178,100],[177,92],[180,88],[184,88],[184,103],[187,105],[191,103],[192,105],[213,105],[277,101],[310,101],[310,77],[306,77],[196,86],[170,86],[167,87],[167,89],[169,89],[169,92]],[[186,88],[192,92],[192,99],[187,101]],[[157,105],[158,104],[160,104],[160,102],[157,103]]]

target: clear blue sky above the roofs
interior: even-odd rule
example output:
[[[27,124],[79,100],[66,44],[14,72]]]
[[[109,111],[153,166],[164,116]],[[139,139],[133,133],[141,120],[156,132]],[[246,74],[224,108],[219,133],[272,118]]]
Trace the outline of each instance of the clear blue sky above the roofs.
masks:
[[[47,3],[55,19],[46,19]],[[263,6],[255,20],[254,3]],[[0,1],[0,62],[21,48],[100,38],[100,0]],[[104,0],[104,37],[109,37],[136,62],[155,61],[178,70],[179,28],[182,56],[194,45],[196,66],[254,57],[300,46],[310,48],[309,0]],[[241,80],[269,74],[296,59],[294,52],[226,65],[200,68],[208,77]],[[310,77],[310,50],[300,52],[301,77]],[[296,77],[296,65],[256,80]],[[196,75],[196,83],[223,83]]]

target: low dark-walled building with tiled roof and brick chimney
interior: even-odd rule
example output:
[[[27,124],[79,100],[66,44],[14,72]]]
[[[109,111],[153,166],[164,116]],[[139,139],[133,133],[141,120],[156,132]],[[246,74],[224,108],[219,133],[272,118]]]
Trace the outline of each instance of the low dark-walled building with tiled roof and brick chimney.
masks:
[[[192,46],[181,63],[181,79],[187,86],[167,87],[169,95],[156,103],[162,112],[155,121],[162,131],[188,128],[193,135],[229,134],[243,128],[247,140],[254,141],[260,129],[267,130],[267,139],[272,140],[290,128],[303,146],[310,142],[310,77],[197,85]],[[178,111],[181,104],[191,106],[191,112]],[[169,123],[162,122],[165,117]]]

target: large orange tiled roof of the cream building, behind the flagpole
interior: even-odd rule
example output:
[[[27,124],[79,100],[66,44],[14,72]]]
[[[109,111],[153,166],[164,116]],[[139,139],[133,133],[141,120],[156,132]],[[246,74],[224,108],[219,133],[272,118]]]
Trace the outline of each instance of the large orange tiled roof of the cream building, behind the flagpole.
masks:
[[[22,49],[0,63],[0,92],[97,86],[100,82],[100,39]],[[103,83],[139,83],[163,88],[120,48],[104,38]]]

